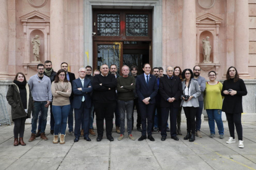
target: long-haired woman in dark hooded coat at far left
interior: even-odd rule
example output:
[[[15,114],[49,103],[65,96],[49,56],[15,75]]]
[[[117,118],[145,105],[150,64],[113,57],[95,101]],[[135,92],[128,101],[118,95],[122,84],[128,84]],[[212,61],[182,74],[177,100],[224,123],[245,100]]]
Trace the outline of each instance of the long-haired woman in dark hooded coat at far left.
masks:
[[[26,144],[23,142],[25,121],[30,118],[32,111],[32,95],[23,73],[17,73],[14,82],[9,85],[6,99],[12,107],[12,121],[14,121],[14,146]],[[18,142],[18,137],[19,142]]]

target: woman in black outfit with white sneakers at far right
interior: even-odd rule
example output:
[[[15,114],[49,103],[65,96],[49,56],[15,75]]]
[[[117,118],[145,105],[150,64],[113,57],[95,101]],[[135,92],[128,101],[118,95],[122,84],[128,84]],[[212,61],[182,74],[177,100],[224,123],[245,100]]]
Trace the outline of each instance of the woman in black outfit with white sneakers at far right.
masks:
[[[242,96],[247,95],[247,89],[244,81],[239,78],[235,67],[229,67],[226,73],[226,80],[223,82],[221,95],[225,98],[223,100],[222,111],[226,113],[228,119],[228,128],[230,136],[227,144],[236,142],[234,136],[234,127],[239,140],[238,147],[244,148],[244,141],[242,140]]]

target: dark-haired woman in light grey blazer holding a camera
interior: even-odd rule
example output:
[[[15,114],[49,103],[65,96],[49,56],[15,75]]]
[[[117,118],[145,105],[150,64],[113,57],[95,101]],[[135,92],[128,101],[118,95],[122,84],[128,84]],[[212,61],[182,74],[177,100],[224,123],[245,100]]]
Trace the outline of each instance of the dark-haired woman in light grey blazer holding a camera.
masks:
[[[186,68],[182,71],[182,95],[181,106],[187,118],[187,136],[184,140],[194,142],[195,140],[195,113],[199,107],[197,97],[201,94],[200,87],[196,80],[193,79],[194,75],[192,70]]]

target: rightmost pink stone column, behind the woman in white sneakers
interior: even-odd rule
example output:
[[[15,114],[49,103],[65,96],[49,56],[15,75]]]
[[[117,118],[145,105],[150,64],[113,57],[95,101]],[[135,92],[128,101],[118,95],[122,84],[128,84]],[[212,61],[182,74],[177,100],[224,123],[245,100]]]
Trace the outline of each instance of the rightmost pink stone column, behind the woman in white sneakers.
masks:
[[[239,76],[249,78],[249,6],[248,0],[236,0],[234,12],[234,62]]]

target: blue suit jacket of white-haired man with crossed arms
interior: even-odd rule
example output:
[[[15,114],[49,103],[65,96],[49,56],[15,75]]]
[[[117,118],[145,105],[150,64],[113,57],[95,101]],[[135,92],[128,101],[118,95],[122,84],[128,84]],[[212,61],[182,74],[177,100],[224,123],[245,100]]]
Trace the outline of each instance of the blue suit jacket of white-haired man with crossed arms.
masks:
[[[80,87],[82,87],[82,91],[77,90],[77,88]],[[90,79],[85,78],[83,86],[80,78],[73,80],[72,91],[74,92],[73,108],[81,107],[83,96],[85,97],[85,104],[87,108],[92,107],[92,100],[90,97],[90,92],[92,91],[92,81]]]

